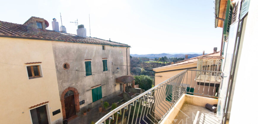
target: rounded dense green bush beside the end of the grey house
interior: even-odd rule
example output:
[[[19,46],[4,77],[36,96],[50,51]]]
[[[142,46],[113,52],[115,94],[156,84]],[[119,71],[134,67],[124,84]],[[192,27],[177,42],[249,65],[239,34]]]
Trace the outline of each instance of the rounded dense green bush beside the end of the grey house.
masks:
[[[145,91],[152,88],[153,80],[151,77],[146,75],[134,76],[135,84],[139,84],[139,88],[144,89]]]

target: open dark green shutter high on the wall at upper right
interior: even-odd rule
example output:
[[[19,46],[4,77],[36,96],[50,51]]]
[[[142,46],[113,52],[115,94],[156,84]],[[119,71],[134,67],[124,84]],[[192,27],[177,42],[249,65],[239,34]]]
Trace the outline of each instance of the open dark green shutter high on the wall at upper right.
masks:
[[[226,10],[226,16],[225,21],[223,25],[223,35],[228,36],[229,27],[231,25],[232,21],[232,11],[233,11],[233,5],[230,0],[227,1],[227,10]]]

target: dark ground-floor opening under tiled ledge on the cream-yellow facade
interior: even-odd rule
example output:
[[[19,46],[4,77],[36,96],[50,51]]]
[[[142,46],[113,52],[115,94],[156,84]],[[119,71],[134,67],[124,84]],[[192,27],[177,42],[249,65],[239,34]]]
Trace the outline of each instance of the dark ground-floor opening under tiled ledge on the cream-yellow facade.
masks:
[[[34,108],[30,111],[33,124],[48,124],[46,105]]]

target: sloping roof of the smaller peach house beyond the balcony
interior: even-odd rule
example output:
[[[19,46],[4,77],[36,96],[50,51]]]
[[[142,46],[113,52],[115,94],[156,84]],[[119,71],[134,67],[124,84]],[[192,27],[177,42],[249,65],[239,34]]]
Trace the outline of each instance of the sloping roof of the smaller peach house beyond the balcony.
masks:
[[[174,64],[171,64],[171,65],[168,65],[168,66],[162,66],[162,67],[158,67],[158,68],[153,68],[152,70],[154,69],[163,69],[163,68],[166,68],[166,67],[175,67],[175,66],[178,66],[178,65],[184,65],[184,64],[189,64],[189,63],[195,63],[197,62],[198,58],[201,58],[201,57],[204,57],[204,56],[220,56],[220,51],[219,52],[215,52],[215,53],[210,53],[210,54],[206,54],[206,55],[202,55],[202,56],[197,56],[197,57],[193,57],[193,58],[189,58],[187,60],[182,60],[182,61],[178,61]]]

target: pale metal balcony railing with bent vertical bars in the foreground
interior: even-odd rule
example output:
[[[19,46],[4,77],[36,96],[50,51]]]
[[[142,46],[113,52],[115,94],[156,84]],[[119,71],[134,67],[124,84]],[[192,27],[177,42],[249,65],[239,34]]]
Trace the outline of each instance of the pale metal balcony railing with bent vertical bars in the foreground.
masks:
[[[221,75],[221,71],[182,71],[120,105],[96,123],[161,123],[184,94],[218,98]]]

